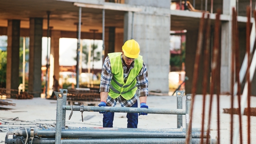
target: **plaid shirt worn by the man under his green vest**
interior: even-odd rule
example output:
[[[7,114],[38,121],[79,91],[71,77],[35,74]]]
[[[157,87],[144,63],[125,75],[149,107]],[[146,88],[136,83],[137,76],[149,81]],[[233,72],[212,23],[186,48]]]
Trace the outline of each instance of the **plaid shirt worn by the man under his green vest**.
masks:
[[[131,63],[130,69],[127,69],[127,67],[124,65],[122,60],[122,55],[121,55],[121,61],[122,61],[122,66],[124,70],[124,82],[126,83],[130,70],[134,68],[134,61]],[[113,74],[111,71],[110,59],[109,59],[109,56],[107,56],[103,64],[101,78],[100,78],[100,92],[110,92],[109,87],[110,87],[110,82],[112,80],[112,77],[113,77]],[[136,80],[137,80],[137,88],[139,89],[139,97],[148,96],[148,73],[147,73],[147,68],[144,61],[143,61],[143,66],[139,72],[139,75],[136,77]],[[135,95],[129,100],[124,99],[122,96],[119,96],[113,99],[108,95],[107,104],[109,106],[116,106],[117,101],[120,103],[121,107],[130,107],[137,102],[137,95],[135,93]]]

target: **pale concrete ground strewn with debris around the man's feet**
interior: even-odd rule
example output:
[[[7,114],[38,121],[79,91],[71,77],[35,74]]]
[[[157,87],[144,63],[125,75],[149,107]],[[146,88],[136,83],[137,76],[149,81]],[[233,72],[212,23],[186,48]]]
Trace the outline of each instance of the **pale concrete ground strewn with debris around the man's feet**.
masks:
[[[8,121],[5,118],[16,118],[19,120],[27,121],[15,121],[15,125],[9,125],[10,127],[35,127],[33,123],[41,123],[42,125],[53,124],[56,118],[56,100],[49,100],[45,98],[33,98],[33,99],[11,99],[11,103],[16,103],[16,106],[6,106],[12,108],[10,110],[0,111],[0,120]],[[235,97],[235,107],[237,107],[237,97]],[[256,97],[251,97],[251,107],[256,107]],[[176,96],[148,96],[147,105],[149,108],[171,108],[176,109]],[[118,104],[118,106],[120,106]],[[207,107],[209,107],[209,95],[207,96]],[[183,108],[185,109],[185,96],[183,96]],[[220,143],[230,143],[230,114],[223,113],[223,108],[230,108],[230,96],[220,96]],[[209,108],[207,108],[207,114]],[[81,113],[74,112],[71,119],[68,120],[70,111],[66,112],[66,125],[76,127],[102,127],[102,114],[98,112],[84,112],[84,122],[82,122]],[[208,116],[208,115],[207,115]],[[237,126],[238,116],[234,116],[234,127]],[[256,143],[256,117],[251,116],[250,134],[251,144]],[[247,116],[242,116],[243,121],[243,143],[247,143]],[[13,121],[8,121],[13,122]],[[192,127],[200,128],[202,122],[202,95],[195,96],[195,104],[193,109]],[[205,123],[208,122],[208,117],[205,118]],[[4,131],[7,124],[0,125],[0,129]],[[22,123],[22,125],[20,125]],[[38,126],[38,124],[37,124]],[[114,127],[125,128],[127,126],[126,113],[115,113]],[[205,124],[205,127],[207,125]],[[176,115],[164,115],[164,114],[148,114],[147,116],[139,116],[138,128],[176,128],[177,116]],[[185,127],[185,116],[183,116],[183,127]],[[217,135],[217,103],[216,97],[213,98],[213,108],[211,116],[211,137],[216,138]],[[0,143],[4,141],[6,136],[5,132],[0,132]],[[12,138],[9,136],[9,138]],[[239,138],[237,138],[239,143]]]

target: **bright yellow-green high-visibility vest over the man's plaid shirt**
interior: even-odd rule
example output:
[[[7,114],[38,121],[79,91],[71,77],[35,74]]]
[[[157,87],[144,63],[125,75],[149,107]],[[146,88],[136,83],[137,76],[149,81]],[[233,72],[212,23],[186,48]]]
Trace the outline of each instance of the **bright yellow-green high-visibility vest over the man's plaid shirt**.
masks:
[[[136,93],[136,77],[143,66],[143,59],[142,56],[139,56],[134,60],[134,68],[130,70],[126,83],[124,83],[124,69],[122,66],[121,54],[121,52],[113,52],[108,54],[113,74],[113,78],[110,83],[109,96],[112,98],[117,98],[121,95],[123,98],[128,100],[131,99]]]

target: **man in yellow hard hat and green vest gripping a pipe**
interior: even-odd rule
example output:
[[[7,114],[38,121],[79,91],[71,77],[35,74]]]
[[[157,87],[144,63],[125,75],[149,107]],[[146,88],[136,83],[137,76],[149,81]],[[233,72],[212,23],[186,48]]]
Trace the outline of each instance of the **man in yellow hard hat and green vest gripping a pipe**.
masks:
[[[131,39],[122,46],[122,52],[108,54],[101,73],[99,106],[116,106],[118,101],[121,107],[138,107],[138,88],[140,108],[148,108],[148,74],[139,52],[138,42]],[[114,113],[100,113],[103,114],[103,127],[113,127]],[[139,115],[147,113],[141,112]],[[138,113],[127,113],[126,117],[127,128],[137,128]]]

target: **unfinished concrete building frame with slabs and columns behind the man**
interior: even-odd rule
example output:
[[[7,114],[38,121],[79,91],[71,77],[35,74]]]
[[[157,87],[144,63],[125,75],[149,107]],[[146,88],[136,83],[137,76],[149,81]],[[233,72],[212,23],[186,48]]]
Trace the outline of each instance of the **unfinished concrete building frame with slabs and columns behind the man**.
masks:
[[[196,42],[202,12],[209,12],[212,27],[217,9],[221,9],[221,92],[229,93],[231,84],[231,12],[238,10],[240,59],[245,55],[246,7],[255,8],[255,0],[191,0],[185,10],[171,10],[171,3],[181,0],[0,0],[0,35],[8,36],[7,88],[17,89],[20,37],[30,38],[29,93],[40,97],[42,37],[51,28],[50,73],[59,77],[59,39],[93,39],[90,29],[97,29],[95,39],[102,39],[103,52],[119,52],[128,39],[138,41],[140,55],[148,68],[149,90],[168,92],[170,30],[186,30],[186,93],[191,92]],[[184,6],[184,4],[183,4]],[[80,10],[81,9],[81,13]],[[81,15],[80,15],[81,14]],[[49,19],[48,19],[49,16]],[[81,27],[79,18],[81,16]],[[49,25],[47,22],[49,20]],[[253,21],[253,18],[252,20]],[[78,25],[77,25],[78,24]],[[48,27],[49,26],[49,27]],[[211,32],[213,36],[213,30]],[[68,57],[68,55],[67,55]],[[203,73],[200,70],[200,73]],[[200,74],[199,74],[200,75]],[[210,77],[209,77],[210,78]],[[198,92],[201,93],[202,77]],[[49,84],[51,86],[52,79]],[[252,86],[255,86],[254,78]],[[256,92],[253,92],[255,95]]]

